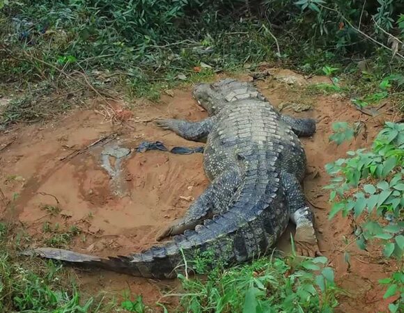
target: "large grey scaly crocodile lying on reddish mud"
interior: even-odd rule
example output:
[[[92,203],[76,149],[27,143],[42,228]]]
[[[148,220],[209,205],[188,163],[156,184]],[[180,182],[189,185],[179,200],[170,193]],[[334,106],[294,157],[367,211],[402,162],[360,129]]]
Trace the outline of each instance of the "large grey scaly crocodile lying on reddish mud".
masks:
[[[129,256],[104,258],[56,248],[24,254],[145,278],[175,278],[194,271],[197,253],[209,252],[212,264],[220,259],[226,266],[265,255],[289,220],[296,225],[297,252],[319,254],[313,213],[302,190],[306,155],[298,138],[315,133],[315,120],[280,114],[252,83],[236,79],[199,83],[193,95],[208,118],[157,121],[189,141],[206,143],[203,168],[210,185],[157,239],[171,240]]]

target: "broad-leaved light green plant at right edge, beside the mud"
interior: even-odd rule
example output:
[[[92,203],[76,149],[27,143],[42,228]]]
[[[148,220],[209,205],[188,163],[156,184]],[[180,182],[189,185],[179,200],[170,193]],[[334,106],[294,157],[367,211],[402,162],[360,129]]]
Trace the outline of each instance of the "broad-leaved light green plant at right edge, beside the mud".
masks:
[[[372,150],[348,152],[348,159],[329,163],[332,176],[329,200],[333,202],[329,218],[339,212],[358,220],[355,230],[357,246],[365,249],[369,241],[382,245],[385,257],[400,262],[404,255],[404,125],[387,122],[373,143]],[[355,190],[352,193],[352,190]],[[384,298],[400,294],[390,312],[398,312],[404,301],[404,268],[391,278]],[[400,304],[401,303],[401,304]]]

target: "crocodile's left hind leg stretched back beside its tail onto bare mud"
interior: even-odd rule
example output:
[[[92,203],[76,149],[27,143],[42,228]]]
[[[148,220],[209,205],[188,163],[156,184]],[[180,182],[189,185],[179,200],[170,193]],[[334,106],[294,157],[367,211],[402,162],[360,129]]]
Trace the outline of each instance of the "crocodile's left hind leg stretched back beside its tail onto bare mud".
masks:
[[[166,236],[182,234],[185,230],[193,230],[203,220],[222,214],[228,207],[235,190],[242,181],[239,168],[228,168],[217,176],[208,188],[189,207],[185,216],[175,220],[157,235],[157,241]]]

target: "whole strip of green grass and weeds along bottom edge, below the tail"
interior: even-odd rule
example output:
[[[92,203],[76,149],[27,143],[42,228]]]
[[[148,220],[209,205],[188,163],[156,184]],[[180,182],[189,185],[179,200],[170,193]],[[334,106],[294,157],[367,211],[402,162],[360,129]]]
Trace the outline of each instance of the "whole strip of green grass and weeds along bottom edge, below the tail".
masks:
[[[59,262],[18,257],[13,234],[0,223],[0,312],[153,312],[141,296],[84,296]],[[179,275],[178,307],[166,312],[332,312],[340,290],[325,257],[263,257],[230,269],[206,269],[210,255],[196,258],[199,276]],[[59,265],[58,265],[59,264]],[[152,310],[152,311],[150,311]]]

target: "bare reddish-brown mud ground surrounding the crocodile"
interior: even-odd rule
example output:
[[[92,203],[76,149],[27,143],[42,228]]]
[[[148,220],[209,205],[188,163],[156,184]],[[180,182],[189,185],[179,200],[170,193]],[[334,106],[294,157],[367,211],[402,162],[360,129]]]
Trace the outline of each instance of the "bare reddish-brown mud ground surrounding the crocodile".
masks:
[[[340,298],[338,312],[386,311],[394,299],[382,300],[384,292],[377,282],[388,275],[392,265],[384,263],[378,250],[364,252],[355,243],[347,246],[343,242],[343,236],[352,240],[350,220],[328,220],[328,193],[323,190],[329,179],[325,164],[345,157],[348,150],[370,145],[380,125],[377,120],[368,120],[340,95],[302,96],[301,86],[327,78],[307,81],[299,76],[300,83],[296,84],[293,79],[285,79],[285,72],[278,73],[280,81],[272,77],[258,81],[265,96],[274,106],[286,102],[305,104],[309,108],[306,111],[296,113],[285,106],[283,112],[318,120],[315,136],[302,139],[308,157],[304,189],[314,206],[320,249],[335,268],[336,281],[349,293]],[[21,126],[1,134],[0,219],[17,220],[31,236],[32,246],[43,246],[44,240],[52,236],[44,232],[45,222],[59,224],[58,232],[68,232],[72,225],[79,227],[81,233],[69,245],[78,252],[126,255],[157,243],[157,232],[182,216],[208,185],[202,168],[203,155],[139,153],[134,148],[142,141],[162,141],[167,147],[201,145],[153,123],[164,117],[205,118],[207,114],[196,106],[190,91],[173,90],[173,97],[163,95],[158,104],[132,104],[133,116],[128,115],[130,119],[119,126],[105,121],[97,111],[87,110],[73,112],[45,126]],[[120,102],[113,105],[125,107]],[[389,115],[385,119],[389,120]],[[366,127],[354,141],[339,147],[329,143],[332,122],[366,120]],[[46,206],[58,207],[60,213],[52,214]],[[283,236],[280,247],[288,250],[288,234]],[[349,268],[343,259],[345,251],[351,255]],[[89,293],[104,290],[122,294],[130,289],[133,294],[143,294],[146,303],[165,302],[162,291],[176,284],[98,269],[77,274],[81,288]]]

